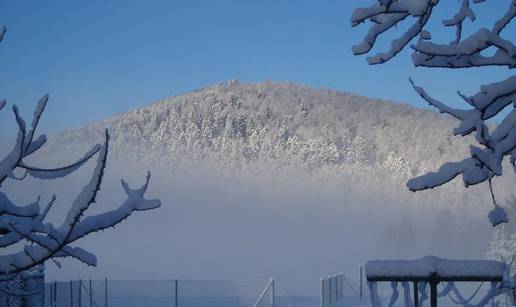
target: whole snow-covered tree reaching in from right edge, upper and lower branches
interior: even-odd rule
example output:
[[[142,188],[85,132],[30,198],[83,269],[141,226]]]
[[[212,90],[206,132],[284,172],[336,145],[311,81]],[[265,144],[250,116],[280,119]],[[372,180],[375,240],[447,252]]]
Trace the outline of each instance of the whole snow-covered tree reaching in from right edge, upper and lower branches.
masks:
[[[369,7],[357,8],[351,17],[352,26],[366,21],[372,25],[364,40],[353,46],[353,53],[369,53],[379,36],[395,28],[402,21],[410,19],[413,22],[408,30],[392,40],[389,50],[369,56],[369,64],[385,63],[409,46],[414,51],[412,61],[416,67],[456,69],[502,66],[513,69],[516,67],[516,47],[513,42],[504,38],[507,34],[505,32],[508,32],[504,30],[509,27],[516,15],[516,0],[509,1],[507,10],[500,12],[499,19],[491,28],[481,28],[471,35],[463,35],[463,24],[466,19],[475,21],[473,6],[484,1],[460,1],[458,11],[450,19],[443,21],[444,26],[454,27],[456,30],[455,39],[444,44],[434,42],[427,29],[433,10],[440,4],[439,0],[378,0]],[[488,49],[496,52],[486,53]],[[451,181],[458,175],[462,175],[466,187],[485,181],[489,181],[491,187],[492,178],[502,175],[502,162],[506,157],[509,157],[516,171],[516,76],[482,85],[480,90],[471,96],[458,91],[458,96],[469,106],[468,109],[450,107],[430,96],[412,80],[411,83],[419,96],[431,106],[460,121],[454,129],[455,135],[465,136],[474,132],[478,144],[470,146],[468,158],[445,163],[436,172],[409,180],[407,186],[410,190],[431,189]],[[511,104],[512,110],[493,131],[489,131],[486,121],[499,115]],[[492,224],[506,222],[507,214],[496,204],[494,197],[493,203],[495,208],[489,214]]]

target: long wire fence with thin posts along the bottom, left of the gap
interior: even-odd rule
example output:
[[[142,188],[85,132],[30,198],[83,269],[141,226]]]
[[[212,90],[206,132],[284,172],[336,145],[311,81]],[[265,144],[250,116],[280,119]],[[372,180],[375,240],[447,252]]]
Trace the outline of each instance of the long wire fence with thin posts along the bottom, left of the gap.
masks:
[[[45,307],[275,307],[274,280],[75,280],[45,284]]]

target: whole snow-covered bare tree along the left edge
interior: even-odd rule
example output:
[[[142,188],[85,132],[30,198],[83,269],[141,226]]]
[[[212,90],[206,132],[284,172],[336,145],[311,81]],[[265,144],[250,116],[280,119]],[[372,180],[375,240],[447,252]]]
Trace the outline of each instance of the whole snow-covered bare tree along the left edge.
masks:
[[[5,27],[0,29],[0,40],[5,33]],[[56,258],[72,257],[79,261],[95,266],[97,258],[74,244],[79,239],[109,227],[114,227],[125,220],[135,211],[146,211],[158,208],[159,200],[145,199],[150,173],[145,184],[132,189],[122,180],[122,187],[127,199],[118,208],[96,215],[86,215],[96,202],[97,193],[101,188],[102,178],[106,167],[109,134],[105,133],[102,145],[95,145],[77,162],[58,168],[41,168],[30,165],[26,158],[36,153],[47,142],[47,137],[35,137],[36,129],[47,105],[48,95],[38,102],[32,123],[27,126],[13,105],[12,112],[17,124],[17,137],[10,152],[0,160],[0,281],[12,280],[20,273],[44,264],[48,260],[58,263]],[[0,101],[0,111],[6,106],[6,101]],[[2,184],[6,180],[23,180],[26,176],[37,179],[51,180],[66,177],[83,166],[97,154],[97,164],[89,182],[77,195],[61,225],[53,225],[46,220],[48,212],[56,200],[56,196],[46,205],[40,204],[38,198],[33,203],[20,205],[12,201],[4,191]],[[3,284],[0,283],[0,291]]]

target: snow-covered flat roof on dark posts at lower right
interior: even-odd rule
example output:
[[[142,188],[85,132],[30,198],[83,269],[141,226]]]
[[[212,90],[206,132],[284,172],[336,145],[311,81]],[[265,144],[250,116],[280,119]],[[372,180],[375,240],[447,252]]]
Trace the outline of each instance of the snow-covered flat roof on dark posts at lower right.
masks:
[[[502,263],[493,260],[449,260],[427,256],[419,260],[374,260],[365,267],[369,281],[498,281]]]

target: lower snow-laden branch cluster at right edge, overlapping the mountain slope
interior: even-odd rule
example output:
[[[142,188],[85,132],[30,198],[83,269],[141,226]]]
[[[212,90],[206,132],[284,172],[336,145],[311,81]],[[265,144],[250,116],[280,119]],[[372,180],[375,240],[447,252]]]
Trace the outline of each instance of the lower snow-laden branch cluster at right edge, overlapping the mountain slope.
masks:
[[[430,97],[426,91],[414,85],[416,92],[430,105],[441,113],[447,113],[460,120],[460,125],[455,128],[456,135],[467,135],[476,131],[476,140],[484,148],[471,146],[471,159],[460,163],[445,164],[436,173],[429,173],[412,179],[408,187],[412,191],[433,188],[455,178],[458,174],[464,174],[466,186],[483,182],[489,178],[485,171],[495,175],[502,175],[502,162],[505,156],[513,156],[516,149],[516,110],[512,110],[490,133],[485,125],[485,120],[492,118],[506,106],[516,102],[516,76],[512,76],[502,82],[482,86],[480,91],[463,98],[473,106],[470,110],[458,110]],[[511,160],[514,163],[514,159]],[[468,172],[466,172],[468,170]],[[473,172],[471,172],[473,171]],[[451,175],[454,174],[454,175]],[[474,176],[470,176],[473,174]],[[478,181],[478,179],[482,179]]]

